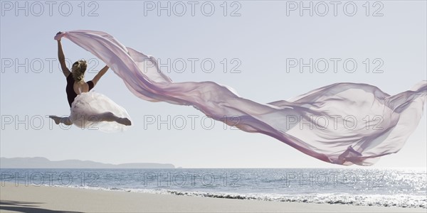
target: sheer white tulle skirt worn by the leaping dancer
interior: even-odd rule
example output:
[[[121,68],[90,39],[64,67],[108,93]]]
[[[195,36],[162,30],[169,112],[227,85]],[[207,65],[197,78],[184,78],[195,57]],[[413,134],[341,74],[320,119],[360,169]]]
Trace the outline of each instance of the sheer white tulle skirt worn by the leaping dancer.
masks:
[[[98,92],[83,92],[75,97],[70,119],[75,126],[104,132],[125,131],[129,126],[115,121],[102,121],[103,114],[111,112],[117,117],[130,119],[125,108]]]

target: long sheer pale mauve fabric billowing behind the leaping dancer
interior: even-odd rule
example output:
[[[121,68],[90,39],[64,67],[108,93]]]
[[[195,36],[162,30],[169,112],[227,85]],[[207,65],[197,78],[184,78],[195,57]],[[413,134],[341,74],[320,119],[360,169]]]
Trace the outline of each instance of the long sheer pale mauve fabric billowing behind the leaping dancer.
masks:
[[[172,82],[154,58],[107,33],[68,31],[56,39],[61,37],[104,61],[141,99],[193,106],[328,163],[372,165],[380,156],[396,153],[418,126],[426,101],[423,81],[394,96],[369,84],[337,83],[288,101],[260,104],[216,82]]]

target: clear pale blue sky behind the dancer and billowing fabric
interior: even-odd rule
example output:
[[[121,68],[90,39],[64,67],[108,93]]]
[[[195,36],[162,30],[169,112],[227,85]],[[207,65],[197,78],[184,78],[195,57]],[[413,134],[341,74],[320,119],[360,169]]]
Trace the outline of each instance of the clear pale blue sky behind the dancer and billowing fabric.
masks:
[[[174,82],[214,81],[268,103],[336,82],[397,94],[427,80],[426,14],[426,1],[1,1],[0,155],[183,168],[345,168],[224,126],[193,107],[138,99],[111,70],[95,91],[125,107],[132,127],[103,133],[56,126],[47,116],[68,116],[69,107],[53,36],[105,31],[153,55]],[[68,66],[89,62],[86,80],[105,65],[62,43]],[[311,59],[311,70],[300,65]],[[401,151],[371,168],[426,168],[425,112]]]

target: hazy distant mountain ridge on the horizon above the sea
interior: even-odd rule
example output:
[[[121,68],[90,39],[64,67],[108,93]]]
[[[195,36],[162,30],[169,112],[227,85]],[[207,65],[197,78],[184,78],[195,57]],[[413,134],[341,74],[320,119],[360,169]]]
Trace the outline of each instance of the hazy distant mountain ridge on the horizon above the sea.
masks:
[[[90,160],[58,160],[47,158],[0,158],[0,168],[175,168],[170,163],[98,163]]]

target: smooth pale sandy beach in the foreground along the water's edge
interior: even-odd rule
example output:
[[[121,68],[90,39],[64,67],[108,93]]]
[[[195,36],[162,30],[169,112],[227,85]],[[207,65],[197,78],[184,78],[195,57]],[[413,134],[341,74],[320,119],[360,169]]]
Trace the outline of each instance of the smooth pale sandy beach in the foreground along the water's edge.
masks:
[[[68,187],[0,186],[0,212],[426,212],[426,209],[362,207],[157,195]]]

